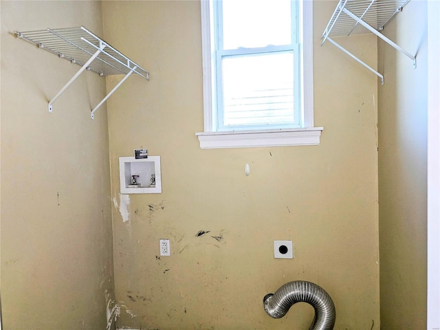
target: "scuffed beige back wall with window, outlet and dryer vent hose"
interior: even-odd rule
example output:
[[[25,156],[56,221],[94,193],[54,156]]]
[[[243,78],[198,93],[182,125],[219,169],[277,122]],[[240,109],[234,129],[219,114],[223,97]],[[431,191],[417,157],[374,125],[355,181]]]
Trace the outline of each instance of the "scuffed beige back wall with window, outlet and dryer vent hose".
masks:
[[[380,328],[377,78],[320,47],[335,5],[314,3],[320,146],[201,150],[199,2],[102,3],[104,36],[151,72],[149,82],[129,78],[107,104],[119,326],[307,329],[308,305],[274,320],[262,304],[284,283],[307,280],[333,298],[336,329]],[[375,66],[375,37],[353,41]],[[141,147],[161,156],[163,192],[129,195],[124,221],[118,157]],[[164,238],[171,256],[159,259]],[[276,239],[294,241],[295,259],[273,258]]]

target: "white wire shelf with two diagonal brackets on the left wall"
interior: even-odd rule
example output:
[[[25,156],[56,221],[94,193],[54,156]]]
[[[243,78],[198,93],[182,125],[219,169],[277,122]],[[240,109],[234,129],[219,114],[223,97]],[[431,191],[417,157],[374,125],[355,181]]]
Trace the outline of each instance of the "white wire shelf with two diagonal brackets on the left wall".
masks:
[[[19,39],[25,39],[38,45],[40,48],[52,52],[71,63],[81,66],[78,73],[50,100],[48,108],[52,113],[52,103],[74,82],[84,71],[91,70],[100,76],[111,76],[124,74],[124,78],[116,87],[91,110],[91,118],[94,119],[94,112],[113,94],[113,92],[124,83],[131,74],[137,74],[149,80],[149,73],[140,65],[131,61],[118,50],[98,36],[80,26],[78,28],[46,29],[26,32],[14,32]]]

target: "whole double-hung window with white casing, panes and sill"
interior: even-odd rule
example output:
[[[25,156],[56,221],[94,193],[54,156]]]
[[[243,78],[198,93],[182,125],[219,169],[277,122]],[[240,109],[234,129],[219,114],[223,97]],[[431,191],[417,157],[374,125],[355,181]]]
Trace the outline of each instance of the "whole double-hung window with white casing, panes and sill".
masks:
[[[201,148],[319,144],[311,0],[201,0]]]

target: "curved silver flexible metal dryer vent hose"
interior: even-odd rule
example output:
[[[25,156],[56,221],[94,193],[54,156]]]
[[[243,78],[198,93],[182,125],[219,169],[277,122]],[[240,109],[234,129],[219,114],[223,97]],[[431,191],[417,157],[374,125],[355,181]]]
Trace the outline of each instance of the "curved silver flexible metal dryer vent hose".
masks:
[[[281,286],[274,294],[263,298],[264,309],[272,318],[282,318],[292,305],[308,303],[315,309],[309,330],[333,330],[335,305],[322,287],[307,281],[294,281]]]

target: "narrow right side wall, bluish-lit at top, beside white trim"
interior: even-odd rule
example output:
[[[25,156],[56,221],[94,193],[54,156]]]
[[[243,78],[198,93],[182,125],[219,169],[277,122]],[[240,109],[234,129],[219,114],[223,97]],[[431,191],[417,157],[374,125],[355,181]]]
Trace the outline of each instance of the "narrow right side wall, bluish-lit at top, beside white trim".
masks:
[[[426,1],[411,1],[379,42],[380,300],[383,329],[426,329]]]

